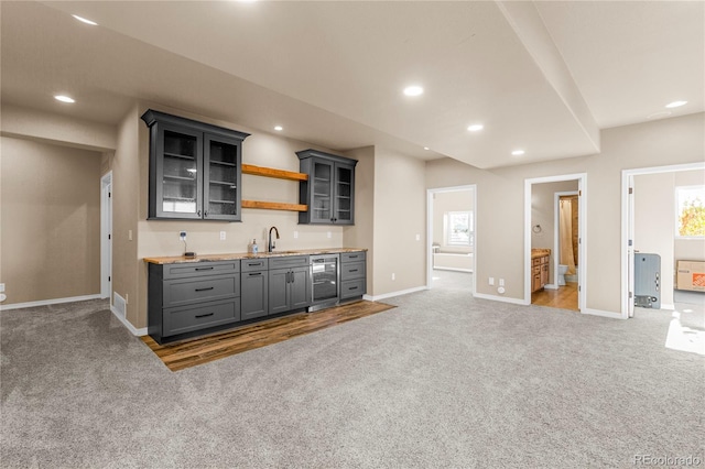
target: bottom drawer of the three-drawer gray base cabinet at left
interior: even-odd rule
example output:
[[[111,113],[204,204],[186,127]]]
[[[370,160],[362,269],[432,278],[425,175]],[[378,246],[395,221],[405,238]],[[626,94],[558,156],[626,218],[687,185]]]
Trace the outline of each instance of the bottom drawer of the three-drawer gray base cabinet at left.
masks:
[[[240,320],[240,302],[232,298],[197,306],[164,309],[163,336],[191,332]]]

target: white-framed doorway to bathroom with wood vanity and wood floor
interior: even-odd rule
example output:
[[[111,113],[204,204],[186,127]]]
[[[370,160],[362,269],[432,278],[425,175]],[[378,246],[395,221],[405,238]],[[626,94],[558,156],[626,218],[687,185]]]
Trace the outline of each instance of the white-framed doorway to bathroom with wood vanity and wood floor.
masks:
[[[584,173],[525,179],[525,304],[585,313],[586,179]]]

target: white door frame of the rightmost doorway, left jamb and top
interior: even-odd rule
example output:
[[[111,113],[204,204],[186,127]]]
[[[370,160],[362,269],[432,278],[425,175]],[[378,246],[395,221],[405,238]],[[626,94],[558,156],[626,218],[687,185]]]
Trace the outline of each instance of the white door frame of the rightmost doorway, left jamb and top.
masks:
[[[705,170],[705,163],[684,163],[666,166],[639,167],[621,171],[621,318],[633,317],[633,236],[634,236],[634,176],[681,171]]]

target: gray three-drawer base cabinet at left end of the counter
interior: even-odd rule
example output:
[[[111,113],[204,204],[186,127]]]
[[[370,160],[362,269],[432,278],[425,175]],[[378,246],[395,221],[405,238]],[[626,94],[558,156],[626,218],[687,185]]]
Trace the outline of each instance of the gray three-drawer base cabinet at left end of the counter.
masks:
[[[238,323],[240,261],[149,264],[148,332],[159,343]]]

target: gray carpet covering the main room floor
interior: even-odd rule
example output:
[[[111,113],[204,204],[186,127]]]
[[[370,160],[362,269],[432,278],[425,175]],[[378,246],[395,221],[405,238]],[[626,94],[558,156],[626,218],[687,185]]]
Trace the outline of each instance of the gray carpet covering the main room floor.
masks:
[[[104,302],[1,312],[0,466],[705,465],[705,361],[664,347],[672,312],[587,317],[464,285],[176,373]]]

